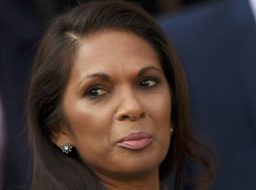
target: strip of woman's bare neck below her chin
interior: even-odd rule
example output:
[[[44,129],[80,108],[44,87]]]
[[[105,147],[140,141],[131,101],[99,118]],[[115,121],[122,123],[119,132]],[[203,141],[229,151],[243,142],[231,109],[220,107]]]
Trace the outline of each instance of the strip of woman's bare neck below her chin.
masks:
[[[117,179],[115,177],[108,177],[98,175],[102,185],[108,190],[159,190],[159,172],[158,170],[148,174],[139,175],[136,177],[127,177],[126,179]]]

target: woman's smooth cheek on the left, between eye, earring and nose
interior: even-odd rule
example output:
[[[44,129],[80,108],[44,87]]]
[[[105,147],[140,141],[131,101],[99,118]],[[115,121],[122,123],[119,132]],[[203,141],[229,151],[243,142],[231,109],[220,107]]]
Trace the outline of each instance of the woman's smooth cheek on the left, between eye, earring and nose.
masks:
[[[67,119],[73,132],[74,146],[81,158],[96,159],[108,154],[111,119],[102,109],[88,108],[84,101],[69,106]],[[92,154],[93,152],[93,154]]]

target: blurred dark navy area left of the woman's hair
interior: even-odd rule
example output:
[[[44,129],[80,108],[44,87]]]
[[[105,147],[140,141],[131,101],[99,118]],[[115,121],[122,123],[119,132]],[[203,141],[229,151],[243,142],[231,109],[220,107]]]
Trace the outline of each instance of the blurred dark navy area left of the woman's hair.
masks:
[[[5,109],[4,189],[20,189],[28,179],[25,100],[32,60],[42,28],[31,1],[0,2],[0,91]]]

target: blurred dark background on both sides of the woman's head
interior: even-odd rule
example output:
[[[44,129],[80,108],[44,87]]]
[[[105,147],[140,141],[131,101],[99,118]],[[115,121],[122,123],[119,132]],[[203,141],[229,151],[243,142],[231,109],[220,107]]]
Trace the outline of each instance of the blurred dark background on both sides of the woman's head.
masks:
[[[77,2],[0,1],[0,189],[27,188],[25,105],[32,62],[50,20]],[[220,162],[213,189],[256,189],[255,1],[133,2],[159,20],[180,56],[196,126]]]

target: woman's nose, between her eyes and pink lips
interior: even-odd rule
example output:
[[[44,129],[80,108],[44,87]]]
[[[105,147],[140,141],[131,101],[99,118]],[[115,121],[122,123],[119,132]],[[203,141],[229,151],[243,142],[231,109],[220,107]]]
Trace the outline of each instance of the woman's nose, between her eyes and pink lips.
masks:
[[[125,119],[136,121],[137,119],[146,116],[141,101],[133,92],[131,92],[131,90],[130,92],[122,92],[119,98],[120,105],[117,111],[118,121],[123,121]]]

